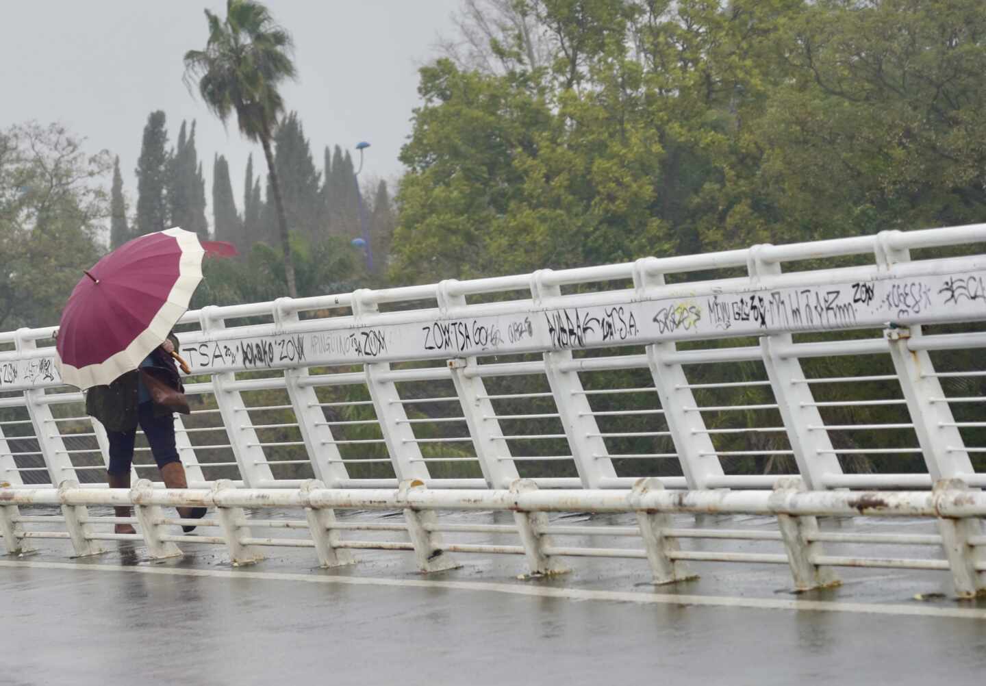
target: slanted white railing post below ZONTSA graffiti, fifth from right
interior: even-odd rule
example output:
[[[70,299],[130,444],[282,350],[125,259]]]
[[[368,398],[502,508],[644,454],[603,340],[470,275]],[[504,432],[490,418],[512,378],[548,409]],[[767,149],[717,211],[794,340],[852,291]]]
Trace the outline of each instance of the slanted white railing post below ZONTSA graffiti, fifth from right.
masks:
[[[438,307],[443,315],[448,315],[450,309],[465,307],[465,297],[455,292],[456,283],[455,279],[447,279],[438,285]],[[475,357],[449,360],[449,371],[483,478],[490,488],[508,488],[520,474],[510,459],[510,446],[501,438],[500,422],[493,403],[486,397],[483,379],[473,374],[477,367]]]

